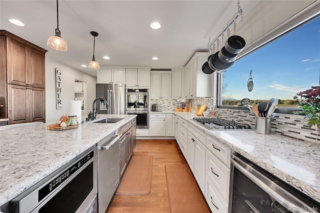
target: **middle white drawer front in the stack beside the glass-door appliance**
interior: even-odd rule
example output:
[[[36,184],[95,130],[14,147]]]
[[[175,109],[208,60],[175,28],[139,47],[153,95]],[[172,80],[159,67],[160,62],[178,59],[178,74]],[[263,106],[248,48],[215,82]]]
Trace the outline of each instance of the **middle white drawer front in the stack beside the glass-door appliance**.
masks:
[[[230,169],[221,163],[210,151],[206,150],[205,155],[206,174],[212,180],[224,200],[227,201],[229,196]]]

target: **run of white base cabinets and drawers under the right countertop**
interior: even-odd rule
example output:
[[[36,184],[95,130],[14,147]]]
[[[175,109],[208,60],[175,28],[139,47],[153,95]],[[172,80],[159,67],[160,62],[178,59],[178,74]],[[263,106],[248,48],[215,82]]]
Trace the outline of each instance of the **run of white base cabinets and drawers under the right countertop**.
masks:
[[[230,185],[230,149],[184,118],[176,116],[179,147],[212,212],[227,212]]]

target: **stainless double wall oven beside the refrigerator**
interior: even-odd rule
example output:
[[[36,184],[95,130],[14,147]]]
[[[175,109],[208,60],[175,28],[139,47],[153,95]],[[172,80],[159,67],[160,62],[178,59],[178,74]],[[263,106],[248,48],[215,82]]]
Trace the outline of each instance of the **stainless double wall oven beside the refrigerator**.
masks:
[[[149,128],[149,92],[147,88],[125,89],[125,113],[136,114],[137,128]]]

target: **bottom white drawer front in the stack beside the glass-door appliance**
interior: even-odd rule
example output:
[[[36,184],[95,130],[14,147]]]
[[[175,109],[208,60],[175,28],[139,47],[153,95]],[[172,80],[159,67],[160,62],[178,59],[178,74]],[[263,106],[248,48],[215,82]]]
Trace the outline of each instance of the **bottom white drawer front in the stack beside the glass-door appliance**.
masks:
[[[221,195],[219,194],[214,184],[211,182],[209,178],[206,180],[206,202],[208,203],[212,212],[216,213],[227,213],[228,212],[228,205],[223,200]]]

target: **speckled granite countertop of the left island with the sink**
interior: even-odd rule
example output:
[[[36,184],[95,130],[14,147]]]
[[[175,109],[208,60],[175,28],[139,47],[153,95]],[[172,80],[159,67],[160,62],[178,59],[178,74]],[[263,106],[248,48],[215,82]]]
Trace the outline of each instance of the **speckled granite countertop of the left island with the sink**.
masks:
[[[68,130],[47,130],[50,123],[25,123],[0,128],[0,205],[52,173],[136,115],[109,114],[124,117],[116,123],[79,124]],[[105,118],[98,114],[96,120]],[[96,121],[94,120],[94,121]],[[11,127],[11,128],[9,128]]]

